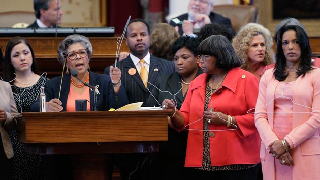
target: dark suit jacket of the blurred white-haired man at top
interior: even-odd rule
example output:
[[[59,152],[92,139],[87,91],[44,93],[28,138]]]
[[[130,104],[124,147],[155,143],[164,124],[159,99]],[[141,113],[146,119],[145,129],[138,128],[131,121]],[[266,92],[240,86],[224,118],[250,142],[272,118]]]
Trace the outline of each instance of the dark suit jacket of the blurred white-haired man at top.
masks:
[[[175,17],[175,18],[178,18],[180,21],[188,20],[188,13],[182,14],[182,15],[180,15],[180,16],[178,16],[178,17]],[[175,19],[175,18],[173,18],[173,19]],[[211,23],[212,23],[212,22],[215,22],[215,23],[217,23],[217,24],[223,24],[223,25],[225,25],[226,27],[232,29],[234,35],[236,34],[236,32],[234,31],[234,29],[233,29],[232,26],[231,26],[231,21],[230,21],[229,18],[224,17],[224,16],[222,16],[222,15],[220,15],[220,14],[217,14],[217,13],[214,13],[214,12],[211,12],[211,13],[210,13],[209,18],[210,18],[210,20],[211,20]],[[172,25],[173,27],[178,26],[178,27],[179,27],[179,33],[180,33],[180,35],[183,34],[182,24],[176,24],[176,23],[174,23],[172,20],[170,20],[170,25]]]

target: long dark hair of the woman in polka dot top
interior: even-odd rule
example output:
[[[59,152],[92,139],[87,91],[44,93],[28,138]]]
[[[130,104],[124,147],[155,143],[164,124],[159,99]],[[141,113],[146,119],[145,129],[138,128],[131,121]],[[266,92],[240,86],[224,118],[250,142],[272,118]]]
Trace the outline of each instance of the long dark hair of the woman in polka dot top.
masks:
[[[4,61],[4,81],[9,82],[15,78],[15,75],[12,74],[15,72],[15,69],[11,63],[11,51],[16,45],[20,43],[24,43],[29,47],[32,55],[31,71],[38,74],[39,70],[38,70],[38,65],[36,62],[34,50],[32,49],[32,47],[30,46],[29,42],[26,39],[20,36],[16,36],[10,39],[7,43],[6,52],[5,52],[5,61]],[[11,84],[13,84],[13,82],[11,82]]]

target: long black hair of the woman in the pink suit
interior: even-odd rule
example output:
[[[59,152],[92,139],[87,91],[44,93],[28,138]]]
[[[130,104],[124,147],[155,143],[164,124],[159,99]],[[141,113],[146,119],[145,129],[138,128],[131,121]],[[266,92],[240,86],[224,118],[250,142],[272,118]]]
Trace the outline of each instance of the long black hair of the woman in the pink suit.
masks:
[[[273,74],[278,81],[283,81],[288,76],[288,73],[286,73],[285,71],[286,58],[282,49],[282,36],[286,31],[289,30],[294,30],[297,33],[297,40],[301,49],[301,61],[298,71],[296,72],[297,76],[304,76],[309,70],[313,69],[311,67],[311,65],[313,65],[313,63],[311,62],[312,51],[308,35],[300,26],[285,25],[280,29],[277,37],[276,63]]]

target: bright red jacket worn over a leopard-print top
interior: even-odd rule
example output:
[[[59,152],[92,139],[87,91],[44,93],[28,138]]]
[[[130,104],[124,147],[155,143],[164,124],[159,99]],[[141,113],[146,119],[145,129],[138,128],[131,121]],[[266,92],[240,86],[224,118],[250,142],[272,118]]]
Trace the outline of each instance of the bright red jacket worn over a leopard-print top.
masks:
[[[208,74],[201,74],[190,84],[180,112],[185,119],[184,127],[190,124],[186,149],[186,167],[201,167],[203,160],[203,111]],[[236,118],[239,129],[213,131],[210,140],[212,166],[231,164],[257,164],[260,162],[260,137],[254,126],[254,115],[247,111],[254,108],[258,96],[258,79],[240,68],[231,69],[209,102],[215,111]],[[253,111],[254,112],[254,111]],[[197,121],[200,119],[200,121]],[[209,130],[228,130],[225,125],[209,125]]]

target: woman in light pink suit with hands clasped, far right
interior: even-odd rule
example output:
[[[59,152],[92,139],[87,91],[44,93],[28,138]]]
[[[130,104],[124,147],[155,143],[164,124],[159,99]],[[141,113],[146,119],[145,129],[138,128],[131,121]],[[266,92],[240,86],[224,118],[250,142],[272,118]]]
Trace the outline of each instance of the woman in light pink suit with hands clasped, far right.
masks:
[[[320,177],[320,69],[311,55],[300,26],[280,29],[276,64],[260,80],[255,109],[265,180]]]

